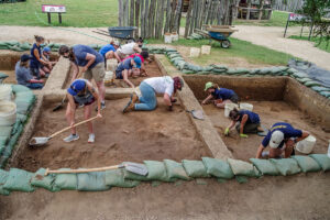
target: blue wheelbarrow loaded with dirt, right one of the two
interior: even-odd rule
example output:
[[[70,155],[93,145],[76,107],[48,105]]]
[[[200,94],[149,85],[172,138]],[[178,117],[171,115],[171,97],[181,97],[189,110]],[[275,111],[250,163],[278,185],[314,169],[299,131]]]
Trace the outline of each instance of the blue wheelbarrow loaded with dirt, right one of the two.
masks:
[[[229,36],[235,31],[238,31],[235,29],[232,29],[232,26],[229,25],[204,25],[204,26],[206,26],[206,31],[198,30],[198,29],[195,29],[195,31],[198,34],[209,38],[210,42],[211,40],[220,42],[222,48],[230,47],[231,43],[229,41]]]

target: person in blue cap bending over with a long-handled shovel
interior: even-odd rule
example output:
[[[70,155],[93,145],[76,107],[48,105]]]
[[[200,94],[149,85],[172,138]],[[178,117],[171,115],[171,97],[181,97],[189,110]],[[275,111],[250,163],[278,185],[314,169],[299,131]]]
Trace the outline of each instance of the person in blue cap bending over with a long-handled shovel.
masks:
[[[85,120],[89,119],[91,116],[91,106],[95,101],[98,103],[98,117],[101,116],[101,101],[98,92],[92,87],[91,82],[86,79],[76,79],[72,82],[70,87],[67,89],[67,109],[66,109],[66,120],[73,127],[75,124],[75,113],[78,106],[84,106],[84,117]],[[92,123],[88,122],[88,143],[95,142],[95,134]],[[72,128],[72,134],[65,138],[63,141],[72,142],[79,139],[79,135],[76,132],[76,128]]]

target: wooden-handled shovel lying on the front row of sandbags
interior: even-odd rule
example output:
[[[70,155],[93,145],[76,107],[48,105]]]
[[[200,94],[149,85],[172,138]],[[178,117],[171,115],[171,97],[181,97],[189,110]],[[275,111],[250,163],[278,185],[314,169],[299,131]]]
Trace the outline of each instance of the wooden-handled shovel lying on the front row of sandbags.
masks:
[[[132,162],[124,162],[120,165],[116,166],[105,166],[99,168],[81,168],[81,169],[70,169],[70,170],[50,170],[46,169],[45,176],[48,174],[80,174],[80,173],[90,173],[90,172],[105,172],[109,169],[118,169],[118,168],[125,168],[128,172],[146,176],[147,175],[147,168],[144,164],[138,164]]]

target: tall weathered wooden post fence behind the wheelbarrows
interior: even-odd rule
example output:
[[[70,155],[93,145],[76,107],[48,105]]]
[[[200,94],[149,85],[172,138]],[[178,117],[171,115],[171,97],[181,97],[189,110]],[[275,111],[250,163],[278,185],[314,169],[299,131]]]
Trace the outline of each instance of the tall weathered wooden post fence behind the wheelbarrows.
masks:
[[[239,0],[190,0],[185,36],[202,24],[231,24]],[[119,25],[140,28],[140,36],[161,38],[179,32],[184,0],[119,0]],[[139,33],[135,33],[138,36]]]

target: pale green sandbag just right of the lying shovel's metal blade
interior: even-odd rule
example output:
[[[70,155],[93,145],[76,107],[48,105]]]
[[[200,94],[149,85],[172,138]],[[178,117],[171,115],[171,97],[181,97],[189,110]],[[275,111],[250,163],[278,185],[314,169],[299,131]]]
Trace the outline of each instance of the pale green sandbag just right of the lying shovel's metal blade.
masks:
[[[148,180],[160,180],[160,182],[169,182],[166,173],[166,167],[163,162],[156,161],[144,161],[144,164],[147,168],[147,179]]]

